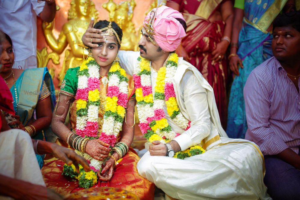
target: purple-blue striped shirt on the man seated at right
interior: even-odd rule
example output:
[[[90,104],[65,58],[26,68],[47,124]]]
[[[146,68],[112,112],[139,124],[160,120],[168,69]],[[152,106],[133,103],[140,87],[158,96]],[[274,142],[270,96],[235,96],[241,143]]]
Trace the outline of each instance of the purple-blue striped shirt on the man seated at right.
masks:
[[[245,139],[259,145],[264,155],[276,155],[286,148],[298,153],[300,94],[275,57],[251,72],[244,99],[248,124]]]

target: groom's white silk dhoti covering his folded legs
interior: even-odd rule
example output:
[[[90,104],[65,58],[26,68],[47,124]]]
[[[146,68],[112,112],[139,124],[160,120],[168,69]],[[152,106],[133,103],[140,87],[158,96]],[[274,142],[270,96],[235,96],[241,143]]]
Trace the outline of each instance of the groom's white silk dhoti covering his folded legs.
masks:
[[[259,148],[243,139],[221,140],[204,154],[184,160],[150,156],[148,151],[137,169],[175,199],[271,199],[263,183]]]

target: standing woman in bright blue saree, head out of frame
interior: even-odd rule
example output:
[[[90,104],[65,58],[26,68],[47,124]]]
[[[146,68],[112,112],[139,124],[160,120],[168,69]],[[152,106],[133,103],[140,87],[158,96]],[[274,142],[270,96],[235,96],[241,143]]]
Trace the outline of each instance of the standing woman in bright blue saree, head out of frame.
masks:
[[[234,77],[229,97],[226,133],[244,138],[247,131],[243,89],[251,71],[273,56],[272,22],[287,0],[236,0],[229,66]]]

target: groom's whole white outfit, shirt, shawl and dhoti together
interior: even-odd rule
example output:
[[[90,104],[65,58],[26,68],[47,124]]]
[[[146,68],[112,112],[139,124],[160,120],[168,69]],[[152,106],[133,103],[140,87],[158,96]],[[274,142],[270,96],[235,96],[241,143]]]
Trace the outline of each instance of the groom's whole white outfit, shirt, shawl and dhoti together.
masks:
[[[120,65],[133,74],[139,52],[119,52]],[[157,72],[151,68],[152,89]],[[250,141],[230,139],[220,125],[214,93],[199,71],[182,58],[173,78],[176,100],[182,114],[191,121],[187,131],[167,114],[182,150],[200,144],[204,154],[180,160],[150,156],[147,152],[137,169],[141,176],[176,199],[268,199],[263,184],[264,161]]]

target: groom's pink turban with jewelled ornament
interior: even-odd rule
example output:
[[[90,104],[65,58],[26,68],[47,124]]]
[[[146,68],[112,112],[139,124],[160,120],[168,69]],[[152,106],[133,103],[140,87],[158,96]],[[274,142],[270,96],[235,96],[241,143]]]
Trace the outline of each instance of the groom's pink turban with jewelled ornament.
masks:
[[[153,10],[155,9],[156,8]],[[144,19],[144,26],[145,23],[149,22],[147,19],[150,18],[150,13],[151,11]],[[151,17],[152,16],[153,13]],[[155,34],[153,34],[153,37],[158,46],[167,52],[175,51],[181,43],[181,38],[185,36],[184,28],[175,18],[183,19],[183,16],[173,8],[163,5],[156,10],[156,17],[153,25]]]

